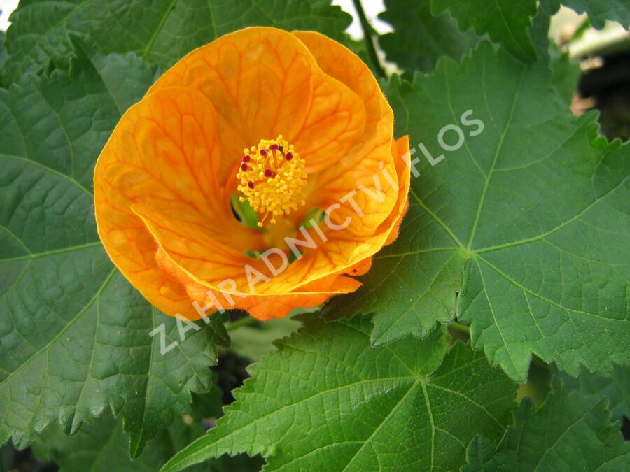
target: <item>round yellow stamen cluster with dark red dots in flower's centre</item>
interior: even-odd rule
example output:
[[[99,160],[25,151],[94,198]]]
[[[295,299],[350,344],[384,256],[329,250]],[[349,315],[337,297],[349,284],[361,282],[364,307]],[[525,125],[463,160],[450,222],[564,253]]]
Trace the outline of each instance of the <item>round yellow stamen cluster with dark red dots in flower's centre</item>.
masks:
[[[244,194],[239,200],[249,201],[257,213],[264,213],[258,226],[262,227],[269,215],[273,224],[276,216],[288,215],[306,203],[303,194],[307,183],[305,169],[304,159],[282,135],[276,139],[261,139],[258,147],[244,150],[237,173],[241,181],[238,189]]]

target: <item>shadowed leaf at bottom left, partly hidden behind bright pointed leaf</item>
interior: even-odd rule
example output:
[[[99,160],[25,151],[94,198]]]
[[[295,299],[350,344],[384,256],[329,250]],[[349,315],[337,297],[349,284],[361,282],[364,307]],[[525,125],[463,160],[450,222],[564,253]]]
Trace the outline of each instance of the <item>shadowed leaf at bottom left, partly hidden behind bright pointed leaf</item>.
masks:
[[[175,452],[202,434],[201,424],[186,424],[178,417],[169,428],[160,430],[142,455],[132,460],[127,455],[123,425],[110,412],[105,412],[94,424],[85,425],[73,436],[66,436],[56,424],[51,424],[36,439],[34,452],[40,460],[54,460],[60,472],[155,472]],[[248,457],[213,459],[190,472],[257,471],[260,462]]]

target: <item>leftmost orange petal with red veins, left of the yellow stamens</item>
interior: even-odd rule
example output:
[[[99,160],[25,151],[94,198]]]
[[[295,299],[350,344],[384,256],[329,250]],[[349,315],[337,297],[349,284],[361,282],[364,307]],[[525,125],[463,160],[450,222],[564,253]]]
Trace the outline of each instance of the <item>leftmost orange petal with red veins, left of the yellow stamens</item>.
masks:
[[[176,217],[188,233],[204,234],[216,247],[262,244],[258,231],[232,217],[218,186],[221,145],[215,129],[214,108],[203,94],[181,87],[160,90],[125,113],[94,170],[95,214],[106,251],[125,277],[170,315],[190,310],[190,299],[158,266],[155,238],[139,213]],[[181,227],[171,235],[173,244],[188,238]]]

